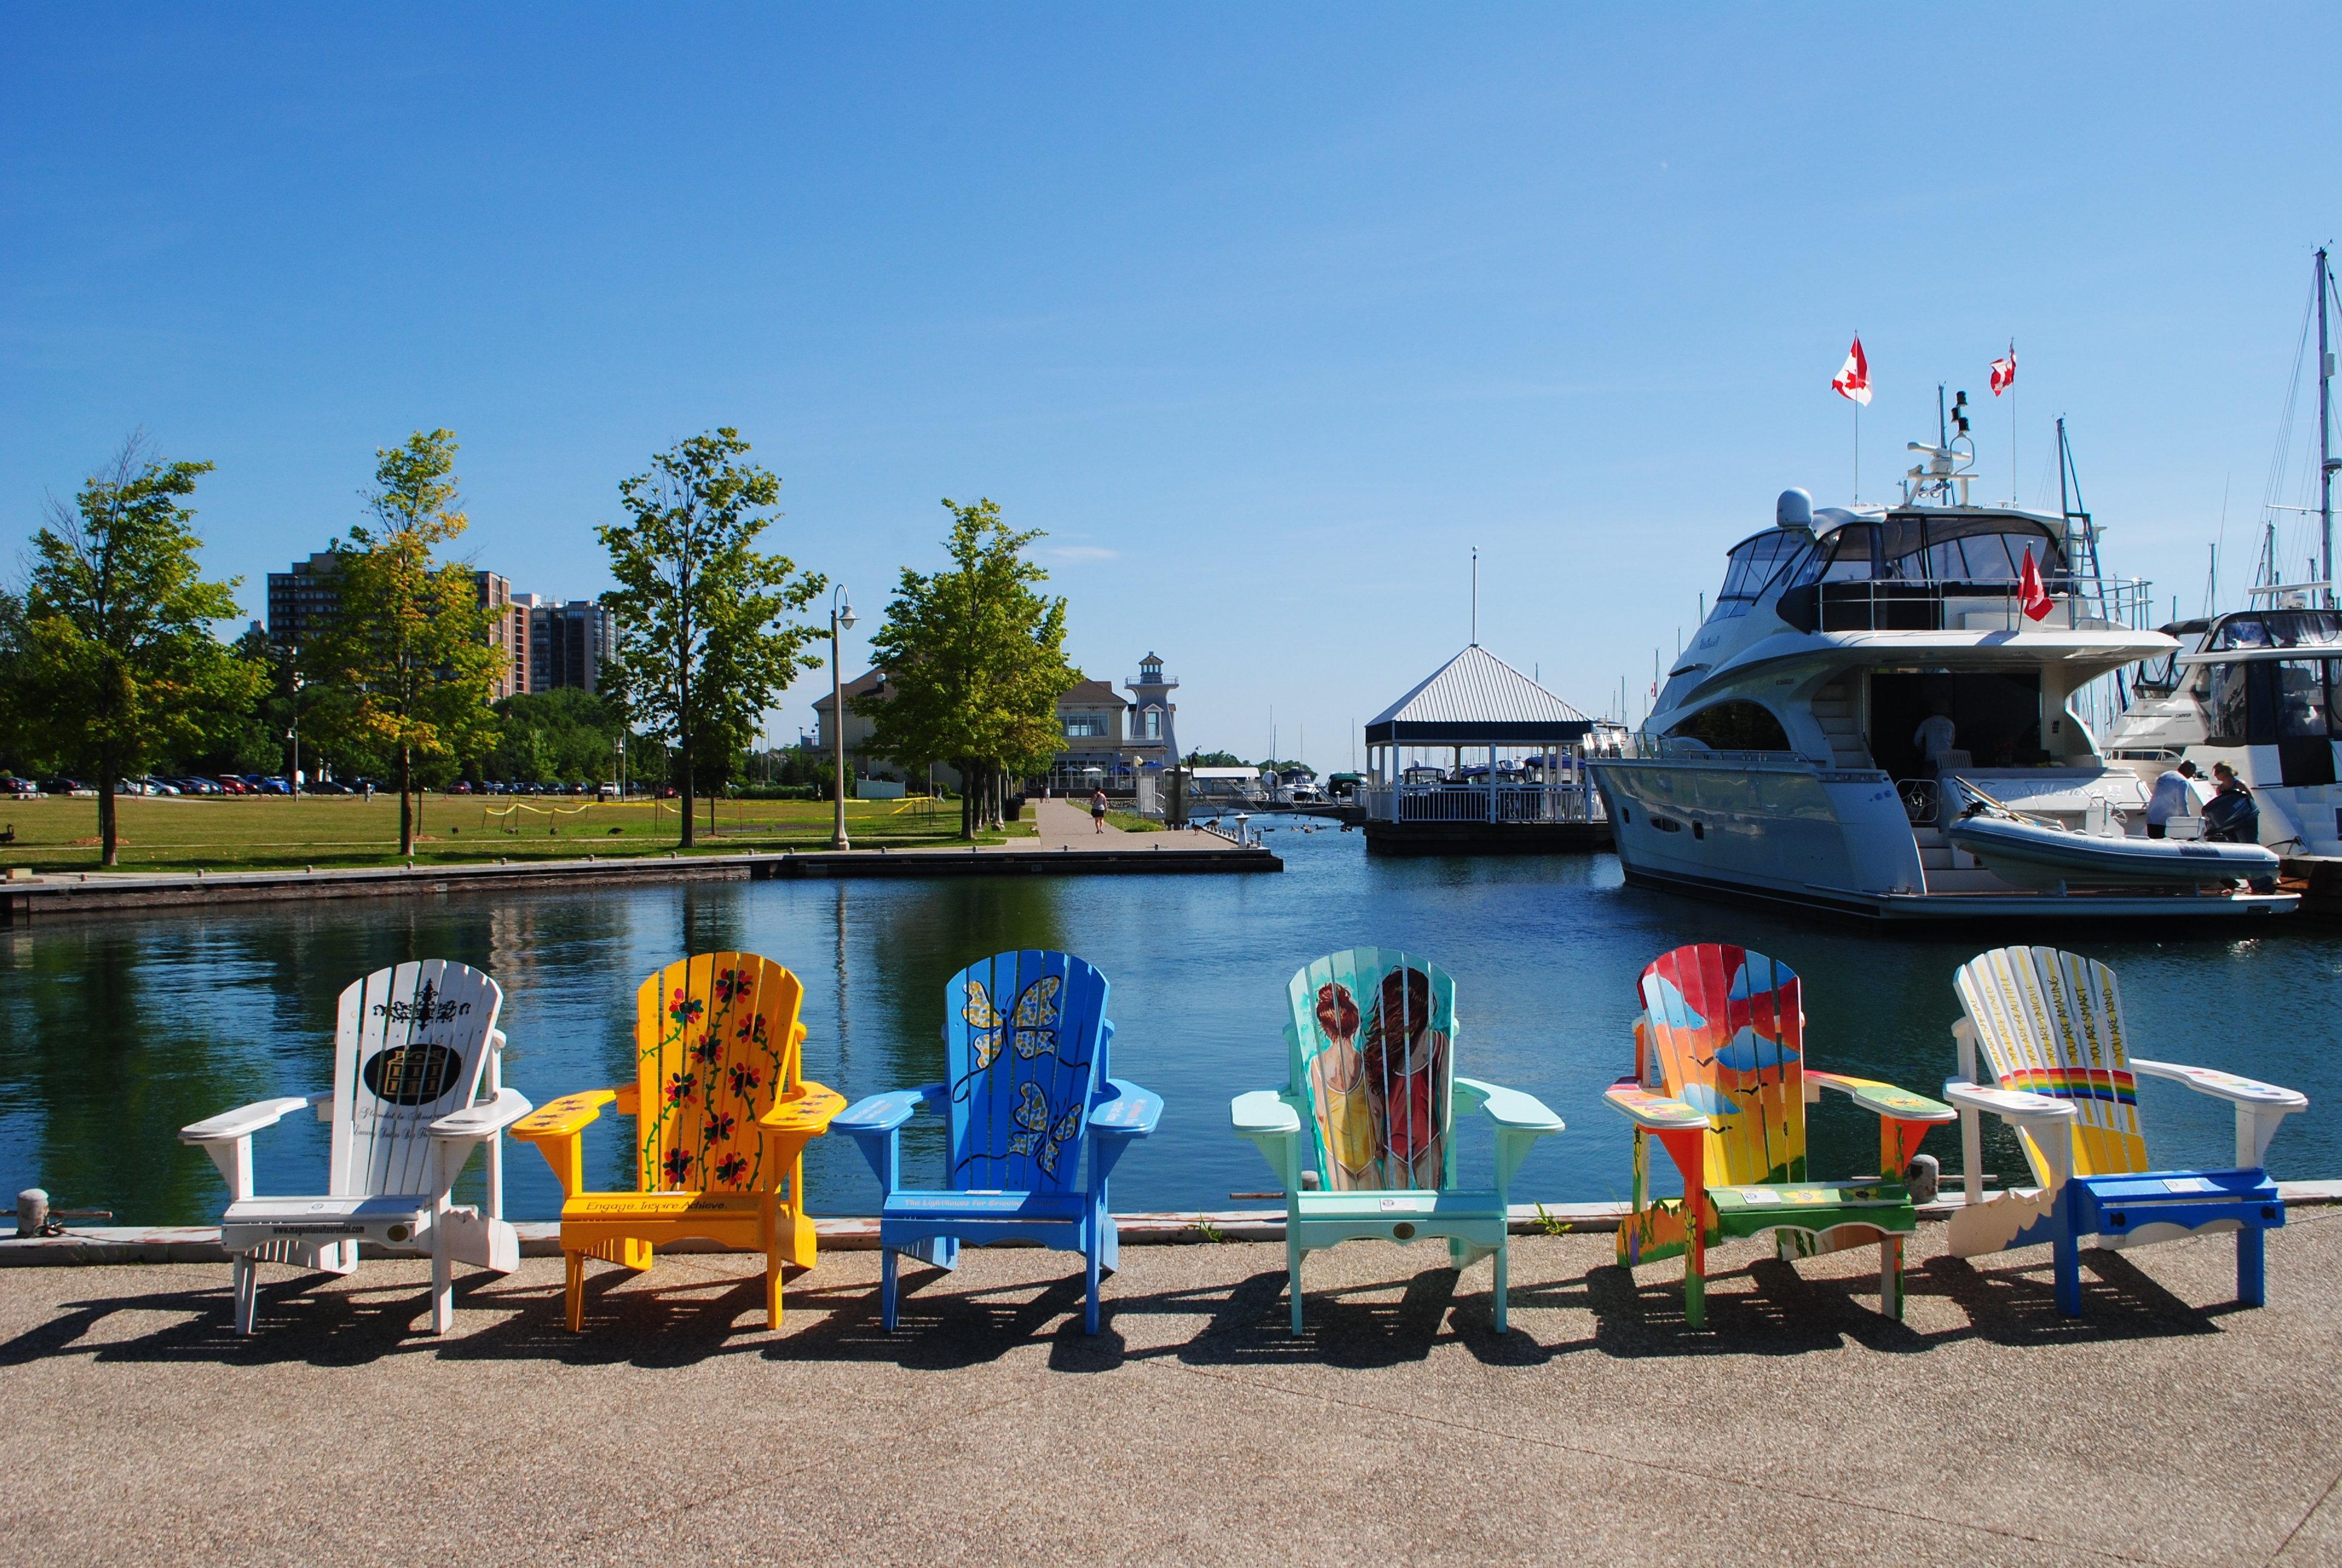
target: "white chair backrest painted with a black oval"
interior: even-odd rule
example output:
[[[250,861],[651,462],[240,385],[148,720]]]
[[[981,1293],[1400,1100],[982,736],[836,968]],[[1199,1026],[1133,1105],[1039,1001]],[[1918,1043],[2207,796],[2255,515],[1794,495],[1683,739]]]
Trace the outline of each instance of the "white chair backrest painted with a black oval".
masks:
[[[473,1104],[504,1008],[494,980],[424,959],[354,980],[335,1015],[337,1198],[431,1191],[431,1123]]]

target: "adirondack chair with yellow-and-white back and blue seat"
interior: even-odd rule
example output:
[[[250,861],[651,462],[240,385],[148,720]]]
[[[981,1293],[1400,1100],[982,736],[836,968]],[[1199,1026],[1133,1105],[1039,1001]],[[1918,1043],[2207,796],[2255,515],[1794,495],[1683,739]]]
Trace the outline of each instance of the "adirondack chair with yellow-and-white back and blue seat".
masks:
[[[2286,1223],[2260,1163],[2276,1127],[2309,1099],[2255,1078],[2134,1057],[2115,970],[2080,954],[1998,947],[1963,963],[1953,989],[1965,1010],[1953,1024],[1960,1078],[1944,1085],[1944,1097],[1960,1106],[1967,1207],[1951,1216],[1951,1254],[2049,1242],[2059,1310],[2080,1317],[2084,1235],[2101,1247],[2141,1247],[2234,1230],[2237,1298],[2260,1305],[2262,1238]],[[2234,1104],[2237,1170],[2155,1170],[2138,1125],[2138,1073]],[[1984,1202],[1979,1111],[2016,1130],[2040,1191]]]

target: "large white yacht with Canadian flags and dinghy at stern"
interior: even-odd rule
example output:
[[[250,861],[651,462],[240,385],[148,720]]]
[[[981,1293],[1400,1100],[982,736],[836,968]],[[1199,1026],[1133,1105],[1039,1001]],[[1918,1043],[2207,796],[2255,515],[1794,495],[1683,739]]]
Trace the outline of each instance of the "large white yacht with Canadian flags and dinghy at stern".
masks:
[[[1883,921],[2295,909],[2232,886],[2216,846],[2150,851],[2152,773],[2105,757],[2082,720],[2089,682],[2178,654],[2145,628],[2145,584],[2077,577],[2068,518],[1972,506],[1967,452],[1913,450],[1899,506],[1785,492],[1775,525],[1731,548],[1644,731],[1588,757],[1628,881]],[[2040,830],[2026,863],[1946,837],[1974,811]],[[2045,837],[2070,867],[2042,874]]]

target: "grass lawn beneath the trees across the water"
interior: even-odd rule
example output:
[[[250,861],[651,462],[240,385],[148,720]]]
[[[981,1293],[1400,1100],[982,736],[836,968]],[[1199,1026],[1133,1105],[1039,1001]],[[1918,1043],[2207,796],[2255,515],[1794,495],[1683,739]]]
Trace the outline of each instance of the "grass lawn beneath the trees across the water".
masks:
[[[377,795],[316,799],[283,797],[119,797],[124,872],[283,870],[300,865],[396,865],[398,802]],[[707,806],[698,818],[696,853],[742,848],[829,848],[829,802],[719,802],[714,830]],[[35,872],[89,872],[98,867],[96,799],[0,802],[0,865]],[[595,802],[583,797],[497,799],[480,795],[424,797],[417,865],[461,860],[574,860],[578,855],[649,855],[674,848],[672,802]],[[1030,823],[1012,823],[1002,837],[1030,837]],[[960,804],[925,799],[845,802],[845,834],[857,848],[909,848],[960,841]]]

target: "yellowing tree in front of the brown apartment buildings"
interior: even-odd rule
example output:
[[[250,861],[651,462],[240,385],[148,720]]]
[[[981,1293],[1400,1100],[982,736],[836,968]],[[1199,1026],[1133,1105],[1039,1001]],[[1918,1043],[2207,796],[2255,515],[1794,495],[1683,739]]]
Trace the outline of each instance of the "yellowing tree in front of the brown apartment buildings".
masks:
[[[375,490],[365,492],[375,523],[333,546],[340,605],[302,649],[302,673],[323,684],[304,705],[319,738],[391,764],[400,855],[415,853],[424,778],[494,741],[487,694],[506,659],[489,640],[492,612],[471,570],[433,560],[468,525],[454,455],[454,431],[445,429],[375,450]]]

